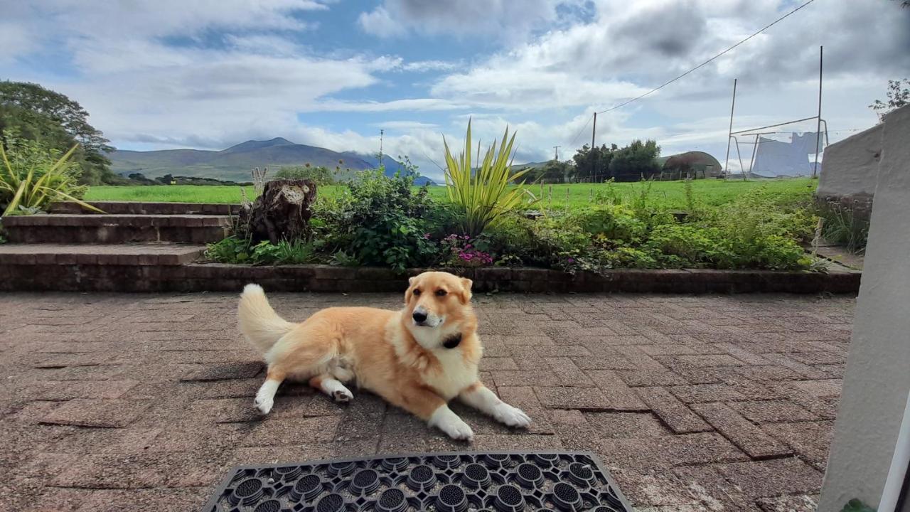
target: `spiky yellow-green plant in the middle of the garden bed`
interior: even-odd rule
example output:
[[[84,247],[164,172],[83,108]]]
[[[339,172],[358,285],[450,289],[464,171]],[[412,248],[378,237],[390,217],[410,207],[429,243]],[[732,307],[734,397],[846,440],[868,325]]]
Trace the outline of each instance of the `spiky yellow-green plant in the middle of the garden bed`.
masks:
[[[499,149],[496,149],[496,140],[493,140],[482,160],[478,142],[479,165],[476,169],[471,165],[470,159],[470,120],[464,149],[457,159],[452,155],[445,138],[442,138],[442,141],[446,148],[446,190],[450,202],[460,216],[460,227],[465,234],[477,236],[488,227],[495,226],[505,215],[521,205],[521,198],[525,194],[530,195],[530,192],[522,187],[524,182],[519,182],[528,169],[511,174],[515,134],[513,133],[510,138],[509,128],[506,128],[502,136]],[[517,183],[517,186],[511,187],[511,182]]]

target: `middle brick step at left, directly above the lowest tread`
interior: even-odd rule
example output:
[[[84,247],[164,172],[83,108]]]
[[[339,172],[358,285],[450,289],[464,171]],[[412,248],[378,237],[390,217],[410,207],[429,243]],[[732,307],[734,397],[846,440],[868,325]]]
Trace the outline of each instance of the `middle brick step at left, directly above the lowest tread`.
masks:
[[[229,234],[227,215],[16,215],[3,219],[14,243],[207,243]]]

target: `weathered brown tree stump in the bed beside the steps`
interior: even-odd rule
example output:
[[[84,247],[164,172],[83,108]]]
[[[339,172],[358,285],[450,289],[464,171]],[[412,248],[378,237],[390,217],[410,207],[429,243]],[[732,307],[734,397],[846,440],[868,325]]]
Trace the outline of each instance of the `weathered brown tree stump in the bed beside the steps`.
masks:
[[[316,183],[310,179],[275,179],[266,183],[251,206],[240,210],[239,233],[254,242],[307,238],[310,205],[316,200]]]

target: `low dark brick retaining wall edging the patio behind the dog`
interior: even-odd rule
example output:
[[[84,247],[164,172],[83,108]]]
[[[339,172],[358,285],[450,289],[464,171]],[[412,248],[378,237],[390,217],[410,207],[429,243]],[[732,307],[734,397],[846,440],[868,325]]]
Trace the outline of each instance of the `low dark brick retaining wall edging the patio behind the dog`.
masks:
[[[381,268],[330,265],[254,267],[222,263],[66,264],[4,261],[0,290],[239,292],[249,282],[281,292],[401,292],[405,276]],[[477,292],[855,293],[859,271],[615,270],[570,275],[546,269],[448,269]],[[408,275],[422,271],[412,269]]]

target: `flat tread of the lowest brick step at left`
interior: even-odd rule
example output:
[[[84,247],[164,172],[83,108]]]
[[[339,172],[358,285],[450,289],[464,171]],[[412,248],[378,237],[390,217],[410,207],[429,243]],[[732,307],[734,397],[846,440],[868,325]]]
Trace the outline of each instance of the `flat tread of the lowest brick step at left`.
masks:
[[[205,250],[205,245],[166,243],[120,245],[4,243],[0,244],[0,265],[176,266],[196,261]]]

